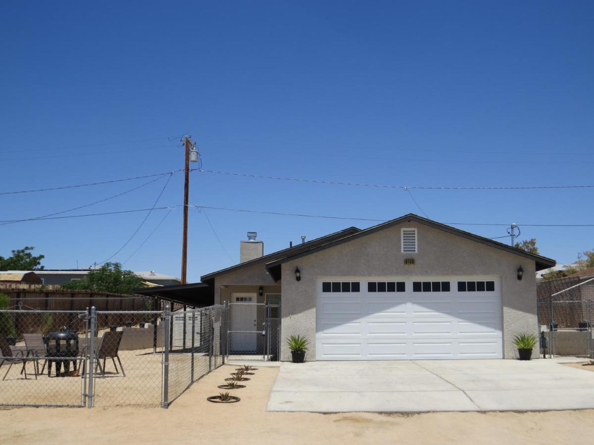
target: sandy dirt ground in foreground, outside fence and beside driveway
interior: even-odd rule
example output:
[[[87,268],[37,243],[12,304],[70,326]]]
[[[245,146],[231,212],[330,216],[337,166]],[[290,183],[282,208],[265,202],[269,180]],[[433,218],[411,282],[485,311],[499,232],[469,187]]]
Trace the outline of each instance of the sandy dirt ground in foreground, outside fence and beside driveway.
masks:
[[[0,412],[0,443],[560,444],[594,437],[594,410],[505,413],[313,414],[266,412],[277,368],[261,367],[241,402],[209,403],[233,371],[225,365],[169,409],[14,408]],[[512,395],[513,396],[513,395]]]

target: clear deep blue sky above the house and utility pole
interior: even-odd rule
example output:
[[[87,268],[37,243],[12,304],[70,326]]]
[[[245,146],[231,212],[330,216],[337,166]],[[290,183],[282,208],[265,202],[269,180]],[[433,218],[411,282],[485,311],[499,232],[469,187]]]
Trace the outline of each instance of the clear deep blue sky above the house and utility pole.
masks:
[[[594,183],[592,2],[0,8],[0,191],[178,170],[184,132],[210,170],[393,185]],[[142,183],[0,195],[0,220]],[[164,183],[71,214],[147,208]],[[159,205],[181,204],[182,188],[175,174]],[[594,223],[593,189],[412,193],[441,222]],[[190,202],[386,220],[421,214],[403,190],[206,173],[192,173]],[[46,268],[89,266],[116,252],[144,215],[0,225],[0,255],[29,245],[46,255]],[[163,215],[154,211],[113,260],[128,258]],[[215,210],[208,217],[234,262],[248,230],[269,253],[302,234],[372,224]],[[177,208],[125,266],[179,276],[181,222]],[[504,227],[458,227],[505,235]],[[521,238],[536,237],[542,255],[572,262],[594,247],[593,233],[522,227]],[[191,211],[189,280],[230,264],[205,215]]]

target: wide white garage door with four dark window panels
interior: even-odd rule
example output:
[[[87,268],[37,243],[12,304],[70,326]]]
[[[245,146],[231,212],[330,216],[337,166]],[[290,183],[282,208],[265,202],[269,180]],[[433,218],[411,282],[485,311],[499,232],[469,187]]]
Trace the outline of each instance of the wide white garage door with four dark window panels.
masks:
[[[495,276],[324,278],[317,360],[503,358]]]

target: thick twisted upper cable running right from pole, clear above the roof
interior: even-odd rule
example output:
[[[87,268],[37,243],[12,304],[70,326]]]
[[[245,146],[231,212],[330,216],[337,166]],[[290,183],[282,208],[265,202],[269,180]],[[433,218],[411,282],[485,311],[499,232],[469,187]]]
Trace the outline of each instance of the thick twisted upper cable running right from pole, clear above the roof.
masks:
[[[267,175],[263,175],[263,174],[235,173],[232,171],[216,171],[216,170],[203,170],[203,169],[192,169],[192,171],[200,171],[200,173],[227,174],[230,176],[255,177],[255,178],[261,178],[261,179],[275,179],[275,180],[293,181],[293,182],[306,182],[306,183],[356,186],[356,187],[377,187],[377,188],[384,188],[384,189],[403,189],[403,190],[406,190],[406,189],[418,189],[418,190],[538,190],[538,189],[587,189],[587,188],[594,188],[594,185],[501,186],[501,187],[400,186],[400,185],[338,182],[338,181],[327,181],[327,180],[319,180],[319,179],[301,179],[301,178],[292,178],[292,177],[267,176]]]

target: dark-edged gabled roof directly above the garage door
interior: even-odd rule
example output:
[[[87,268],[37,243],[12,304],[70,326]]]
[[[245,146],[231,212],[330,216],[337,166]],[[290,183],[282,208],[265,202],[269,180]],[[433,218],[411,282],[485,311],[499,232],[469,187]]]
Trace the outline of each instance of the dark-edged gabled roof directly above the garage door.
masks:
[[[443,230],[445,232],[461,236],[463,238],[477,241],[478,243],[485,244],[486,246],[495,247],[495,249],[505,250],[506,252],[514,253],[516,255],[523,256],[525,258],[532,259],[536,262],[536,270],[540,271],[542,269],[550,268],[556,264],[555,260],[551,258],[546,258],[545,256],[535,255],[533,253],[526,252],[522,249],[517,249],[513,246],[508,246],[507,244],[499,243],[497,241],[490,240],[488,238],[484,238],[482,236],[475,235],[473,233],[469,233],[455,227],[451,227],[450,225],[441,224],[440,222],[432,221],[427,218],[419,217],[419,215],[415,215],[413,213],[409,213],[404,215],[400,218],[396,218],[395,220],[390,220],[387,222],[382,222],[381,224],[374,225],[373,227],[366,228],[365,230],[359,230],[356,233],[353,233],[349,236],[342,237],[340,239],[324,243],[321,246],[311,246],[311,249],[308,250],[301,250],[300,252],[289,252],[283,258],[279,258],[276,260],[272,260],[266,263],[267,269],[272,269],[277,266],[280,266],[282,263],[287,261],[291,261],[297,258],[301,258],[305,255],[310,255],[311,253],[320,252],[320,250],[328,249],[329,247],[338,246],[342,243],[347,243],[348,241],[358,239],[360,237],[375,233],[380,230],[384,230],[389,227],[393,227],[394,225],[401,224],[402,222],[410,222],[415,221],[419,224],[424,224],[429,227],[437,228],[439,230]]]

